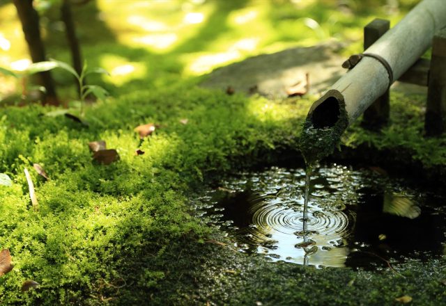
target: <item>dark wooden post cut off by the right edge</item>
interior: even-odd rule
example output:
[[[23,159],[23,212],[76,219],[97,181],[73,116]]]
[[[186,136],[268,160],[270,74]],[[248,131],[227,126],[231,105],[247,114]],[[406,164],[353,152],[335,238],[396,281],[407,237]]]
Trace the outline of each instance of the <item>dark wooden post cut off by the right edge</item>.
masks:
[[[446,131],[446,28],[433,37],[424,129],[426,136]]]

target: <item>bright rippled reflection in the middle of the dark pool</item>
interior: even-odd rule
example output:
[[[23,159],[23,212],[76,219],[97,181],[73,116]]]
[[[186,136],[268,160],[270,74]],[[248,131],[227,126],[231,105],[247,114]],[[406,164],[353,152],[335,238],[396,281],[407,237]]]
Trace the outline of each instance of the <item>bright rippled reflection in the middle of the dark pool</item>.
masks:
[[[258,252],[268,253],[272,259],[298,261],[310,264],[326,265],[325,257],[330,257],[330,266],[343,266],[348,252],[340,252],[345,239],[351,235],[351,225],[355,220],[353,211],[332,211],[309,204],[307,232],[304,231],[303,205],[283,205],[280,200],[265,197],[257,199],[249,208],[249,220],[252,226],[247,227],[247,239],[261,246]],[[314,241],[307,245],[308,241]],[[308,246],[316,245],[317,251],[309,255]],[[311,257],[308,259],[307,257]],[[336,260],[333,260],[333,257]],[[335,261],[339,261],[336,263]]]

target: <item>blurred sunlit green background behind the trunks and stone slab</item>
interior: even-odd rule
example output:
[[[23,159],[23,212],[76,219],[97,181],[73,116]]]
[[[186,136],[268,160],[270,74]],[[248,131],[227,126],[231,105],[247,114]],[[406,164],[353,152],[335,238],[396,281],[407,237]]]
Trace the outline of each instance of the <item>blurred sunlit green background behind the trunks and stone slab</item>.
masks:
[[[89,66],[112,95],[195,79],[256,54],[330,39],[360,51],[362,27],[375,17],[392,26],[417,0],[96,0],[72,1],[77,35]],[[35,0],[47,56],[71,63],[61,0]],[[0,67],[24,70],[29,54],[12,1],[0,1]],[[66,72],[55,70],[62,98],[74,97]],[[0,75],[0,100],[20,81]]]

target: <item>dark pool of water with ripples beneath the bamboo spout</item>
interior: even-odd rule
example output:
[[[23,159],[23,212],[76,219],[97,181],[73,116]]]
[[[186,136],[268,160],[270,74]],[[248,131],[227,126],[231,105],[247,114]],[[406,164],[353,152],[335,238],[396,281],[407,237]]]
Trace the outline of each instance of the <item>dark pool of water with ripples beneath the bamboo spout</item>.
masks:
[[[305,170],[274,167],[233,175],[195,202],[240,252],[272,261],[382,268],[444,253],[444,195],[408,188],[379,168],[320,167],[304,230],[304,188]]]

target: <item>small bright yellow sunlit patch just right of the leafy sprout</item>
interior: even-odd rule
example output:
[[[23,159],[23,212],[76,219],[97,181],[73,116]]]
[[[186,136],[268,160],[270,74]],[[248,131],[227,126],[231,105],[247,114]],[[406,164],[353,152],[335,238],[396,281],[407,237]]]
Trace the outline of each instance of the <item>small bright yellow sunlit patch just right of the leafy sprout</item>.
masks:
[[[132,79],[141,79],[147,73],[144,63],[130,62],[127,58],[114,54],[104,54],[100,58],[100,65],[110,72],[110,79],[116,86]]]

